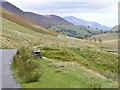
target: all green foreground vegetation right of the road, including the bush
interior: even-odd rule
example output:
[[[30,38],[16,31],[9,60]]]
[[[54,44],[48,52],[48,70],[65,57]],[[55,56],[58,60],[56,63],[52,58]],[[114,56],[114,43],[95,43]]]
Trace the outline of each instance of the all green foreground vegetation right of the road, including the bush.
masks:
[[[117,87],[115,55],[56,45],[40,49],[46,59],[35,58],[25,47],[14,56],[12,67],[23,88]]]

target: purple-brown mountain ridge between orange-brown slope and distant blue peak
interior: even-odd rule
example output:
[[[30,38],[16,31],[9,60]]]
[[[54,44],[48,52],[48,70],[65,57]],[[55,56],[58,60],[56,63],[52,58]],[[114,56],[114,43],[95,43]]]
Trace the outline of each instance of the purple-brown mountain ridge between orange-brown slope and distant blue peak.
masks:
[[[45,28],[55,24],[72,25],[68,21],[56,15],[39,15],[33,12],[25,12],[23,17]]]

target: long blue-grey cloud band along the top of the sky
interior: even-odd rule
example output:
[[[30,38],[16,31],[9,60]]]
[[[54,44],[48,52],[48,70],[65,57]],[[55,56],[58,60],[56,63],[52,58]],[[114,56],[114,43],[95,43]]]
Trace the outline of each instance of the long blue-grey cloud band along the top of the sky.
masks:
[[[29,2],[20,4],[19,1],[16,1],[18,6],[22,9],[88,9],[88,10],[99,10],[105,9],[113,6],[112,2]]]

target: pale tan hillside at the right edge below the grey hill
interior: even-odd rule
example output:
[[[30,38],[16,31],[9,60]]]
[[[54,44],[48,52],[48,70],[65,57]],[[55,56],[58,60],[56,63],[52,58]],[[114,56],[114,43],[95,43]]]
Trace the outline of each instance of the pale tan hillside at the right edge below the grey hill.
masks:
[[[99,39],[102,40],[102,44],[107,44],[108,46],[102,46],[105,47],[106,51],[108,52],[118,52],[118,33],[105,33],[100,35],[92,36],[88,39],[91,39],[94,41],[94,39],[99,42]],[[111,47],[111,48],[108,48]],[[111,50],[112,49],[112,50]]]

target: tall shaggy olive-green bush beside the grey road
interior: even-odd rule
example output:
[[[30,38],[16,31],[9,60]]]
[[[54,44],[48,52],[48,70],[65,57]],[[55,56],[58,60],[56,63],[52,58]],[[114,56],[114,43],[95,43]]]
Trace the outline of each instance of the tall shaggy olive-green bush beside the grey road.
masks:
[[[40,64],[28,48],[21,48],[17,51],[12,66],[23,82],[36,82],[40,78]]]

